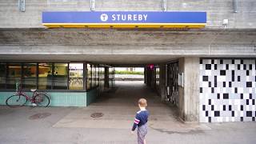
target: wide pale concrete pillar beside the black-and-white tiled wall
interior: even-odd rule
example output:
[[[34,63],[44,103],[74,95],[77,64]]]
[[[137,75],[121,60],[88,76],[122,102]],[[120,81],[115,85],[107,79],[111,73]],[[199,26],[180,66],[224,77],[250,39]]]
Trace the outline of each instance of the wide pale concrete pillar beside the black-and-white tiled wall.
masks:
[[[200,58],[179,58],[184,86],[178,87],[178,107],[180,117],[186,122],[198,122],[199,118],[199,61]]]

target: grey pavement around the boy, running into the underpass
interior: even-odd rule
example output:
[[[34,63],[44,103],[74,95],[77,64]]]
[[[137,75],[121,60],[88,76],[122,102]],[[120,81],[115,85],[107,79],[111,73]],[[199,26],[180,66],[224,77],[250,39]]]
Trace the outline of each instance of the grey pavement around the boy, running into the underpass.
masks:
[[[147,144],[256,143],[256,122],[184,123],[142,82],[116,84],[87,107],[0,106],[0,144],[133,144],[138,98],[148,99]]]

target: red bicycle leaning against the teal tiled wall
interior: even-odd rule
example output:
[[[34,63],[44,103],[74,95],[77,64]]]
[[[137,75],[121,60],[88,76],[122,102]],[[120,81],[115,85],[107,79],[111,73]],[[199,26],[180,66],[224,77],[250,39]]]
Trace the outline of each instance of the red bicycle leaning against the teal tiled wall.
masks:
[[[29,100],[32,105],[35,104],[39,107],[46,107],[50,104],[50,98],[46,94],[38,93],[37,89],[32,89],[32,97],[22,91],[22,89],[16,89],[16,94],[6,99],[6,105],[10,107],[24,106]]]

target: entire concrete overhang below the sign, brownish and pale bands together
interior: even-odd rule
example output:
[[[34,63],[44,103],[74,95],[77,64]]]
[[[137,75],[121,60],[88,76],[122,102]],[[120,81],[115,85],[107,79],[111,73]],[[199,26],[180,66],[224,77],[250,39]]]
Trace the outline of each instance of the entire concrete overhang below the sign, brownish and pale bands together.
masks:
[[[254,57],[256,45],[255,29],[2,29],[0,34],[1,59],[19,54],[16,58],[24,60],[107,64],[159,63],[185,56]]]

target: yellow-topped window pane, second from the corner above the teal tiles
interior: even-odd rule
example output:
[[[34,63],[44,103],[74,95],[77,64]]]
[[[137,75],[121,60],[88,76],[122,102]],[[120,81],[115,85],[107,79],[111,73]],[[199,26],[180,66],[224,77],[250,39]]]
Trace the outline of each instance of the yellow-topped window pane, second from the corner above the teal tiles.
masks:
[[[53,89],[54,90],[67,90],[67,63],[54,63],[54,77]]]

